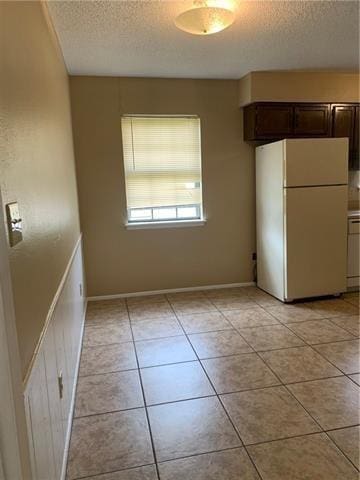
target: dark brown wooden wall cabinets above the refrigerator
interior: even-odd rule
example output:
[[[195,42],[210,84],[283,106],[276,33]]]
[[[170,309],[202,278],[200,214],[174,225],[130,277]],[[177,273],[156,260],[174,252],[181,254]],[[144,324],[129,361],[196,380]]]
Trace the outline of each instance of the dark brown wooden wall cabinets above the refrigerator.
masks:
[[[244,108],[244,140],[348,137],[350,168],[359,168],[358,104],[253,103]]]

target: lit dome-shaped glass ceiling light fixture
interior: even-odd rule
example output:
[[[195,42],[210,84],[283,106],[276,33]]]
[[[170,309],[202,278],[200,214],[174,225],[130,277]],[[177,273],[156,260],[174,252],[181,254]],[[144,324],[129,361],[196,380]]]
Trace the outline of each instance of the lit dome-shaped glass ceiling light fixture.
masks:
[[[175,25],[194,35],[211,35],[221,32],[234,22],[234,12],[229,8],[208,6],[206,1],[195,0],[194,8],[180,13]]]

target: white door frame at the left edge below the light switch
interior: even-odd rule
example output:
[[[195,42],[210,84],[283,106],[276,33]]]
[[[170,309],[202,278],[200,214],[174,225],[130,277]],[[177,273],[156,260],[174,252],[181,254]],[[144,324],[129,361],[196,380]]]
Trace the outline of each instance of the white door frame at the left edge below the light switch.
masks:
[[[31,479],[4,208],[0,192],[0,455],[5,480]],[[1,476],[1,475],[0,475]]]

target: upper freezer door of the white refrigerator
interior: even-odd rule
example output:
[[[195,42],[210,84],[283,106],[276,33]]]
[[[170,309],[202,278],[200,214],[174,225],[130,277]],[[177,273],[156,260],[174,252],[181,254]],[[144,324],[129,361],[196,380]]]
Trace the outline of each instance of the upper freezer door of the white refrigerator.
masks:
[[[284,187],[348,183],[348,139],[284,140]]]

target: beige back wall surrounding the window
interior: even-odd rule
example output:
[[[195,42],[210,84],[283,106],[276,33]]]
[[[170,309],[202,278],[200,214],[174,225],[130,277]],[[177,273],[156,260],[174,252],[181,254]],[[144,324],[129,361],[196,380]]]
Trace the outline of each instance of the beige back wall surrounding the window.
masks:
[[[71,77],[89,295],[252,280],[254,152],[242,140],[238,82]],[[120,116],[198,114],[203,227],[126,230]]]

